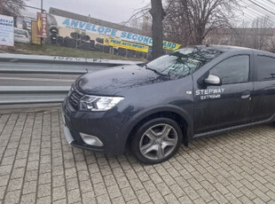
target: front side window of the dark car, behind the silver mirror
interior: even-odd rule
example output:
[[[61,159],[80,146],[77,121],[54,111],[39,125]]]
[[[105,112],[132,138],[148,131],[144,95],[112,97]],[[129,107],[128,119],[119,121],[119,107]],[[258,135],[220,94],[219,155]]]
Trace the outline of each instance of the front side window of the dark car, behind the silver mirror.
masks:
[[[234,56],[217,64],[210,70],[211,75],[220,77],[223,84],[248,82],[249,56]]]

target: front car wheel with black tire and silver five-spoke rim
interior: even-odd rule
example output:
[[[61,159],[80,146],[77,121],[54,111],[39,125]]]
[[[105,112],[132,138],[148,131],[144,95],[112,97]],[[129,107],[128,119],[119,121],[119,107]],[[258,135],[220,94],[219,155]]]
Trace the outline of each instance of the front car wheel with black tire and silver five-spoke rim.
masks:
[[[183,140],[182,129],[169,118],[156,118],[138,127],[131,150],[144,164],[161,163],[177,152]]]

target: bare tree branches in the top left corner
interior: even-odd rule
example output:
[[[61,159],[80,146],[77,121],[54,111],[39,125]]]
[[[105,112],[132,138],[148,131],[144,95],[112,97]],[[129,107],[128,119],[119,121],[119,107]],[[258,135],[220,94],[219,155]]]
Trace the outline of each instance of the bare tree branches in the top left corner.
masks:
[[[20,10],[24,9],[26,0],[2,0],[2,11],[4,15],[18,16]]]

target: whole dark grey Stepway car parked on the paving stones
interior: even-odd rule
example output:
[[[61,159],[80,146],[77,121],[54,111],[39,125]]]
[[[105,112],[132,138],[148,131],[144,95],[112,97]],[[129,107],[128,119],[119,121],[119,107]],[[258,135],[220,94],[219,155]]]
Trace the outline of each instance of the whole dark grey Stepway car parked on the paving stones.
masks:
[[[70,145],[168,160],[194,137],[275,122],[275,54],[195,46],[83,75],[63,103]]]

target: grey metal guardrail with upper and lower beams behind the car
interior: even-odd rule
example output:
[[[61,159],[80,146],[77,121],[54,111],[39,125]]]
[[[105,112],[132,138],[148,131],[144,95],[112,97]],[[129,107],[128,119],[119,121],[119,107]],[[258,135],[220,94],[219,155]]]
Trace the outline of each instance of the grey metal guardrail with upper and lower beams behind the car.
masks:
[[[108,67],[142,64],[138,61],[82,59],[0,53],[0,74],[83,75]],[[59,103],[68,86],[0,86],[0,105]]]

